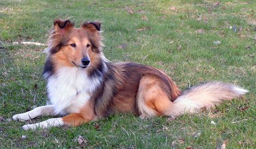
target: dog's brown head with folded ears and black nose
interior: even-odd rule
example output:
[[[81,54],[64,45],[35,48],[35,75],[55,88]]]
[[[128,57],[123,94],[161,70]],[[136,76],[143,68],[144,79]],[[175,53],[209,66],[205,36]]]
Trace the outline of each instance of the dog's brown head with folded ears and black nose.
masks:
[[[86,69],[96,65],[102,53],[100,22],[84,22],[79,28],[69,20],[55,20],[48,39],[48,53],[57,67]]]

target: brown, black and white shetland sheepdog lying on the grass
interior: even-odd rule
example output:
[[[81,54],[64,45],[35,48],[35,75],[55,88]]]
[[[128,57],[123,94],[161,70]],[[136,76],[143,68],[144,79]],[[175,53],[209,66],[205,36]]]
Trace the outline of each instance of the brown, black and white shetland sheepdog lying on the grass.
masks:
[[[112,63],[102,52],[100,28],[97,21],[84,22],[79,28],[69,20],[54,21],[43,70],[49,105],[14,115],[13,119],[61,117],[26,124],[23,129],[79,126],[117,113],[141,118],[180,116],[210,109],[248,92],[222,82],[181,92],[159,69],[137,63]]]

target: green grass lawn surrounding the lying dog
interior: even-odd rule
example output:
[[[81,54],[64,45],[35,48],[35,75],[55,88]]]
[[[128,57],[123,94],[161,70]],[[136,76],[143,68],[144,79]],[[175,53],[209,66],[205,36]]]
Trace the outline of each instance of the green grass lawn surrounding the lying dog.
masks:
[[[0,40],[5,44],[0,49],[0,148],[218,148],[223,142],[226,148],[255,148],[255,8],[255,2],[240,0],[0,0]],[[212,111],[171,122],[166,117],[140,120],[121,114],[75,128],[25,132],[24,122],[9,118],[45,105],[45,47],[11,43],[46,43],[53,20],[59,17],[70,18],[77,26],[101,20],[108,59],[153,65],[182,90],[218,80],[250,92]],[[236,32],[230,26],[236,26]],[[85,140],[82,144],[79,135]]]

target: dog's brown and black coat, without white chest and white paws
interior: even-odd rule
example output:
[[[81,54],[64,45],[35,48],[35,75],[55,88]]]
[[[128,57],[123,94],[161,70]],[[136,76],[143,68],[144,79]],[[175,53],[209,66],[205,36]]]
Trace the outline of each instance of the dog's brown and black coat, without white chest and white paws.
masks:
[[[91,93],[90,101],[80,112],[63,117],[66,124],[79,126],[120,112],[130,112],[142,118],[177,116],[191,110],[186,109],[190,107],[190,102],[193,102],[191,108],[195,110],[205,106],[212,107],[220,99],[241,95],[235,91],[234,86],[214,84],[194,88],[183,94],[181,97],[184,99],[180,100],[178,97],[181,91],[161,70],[135,63],[107,62],[101,51],[101,40],[99,22],[84,22],[80,28],[74,28],[69,20],[54,22],[49,38],[50,54],[44,71],[54,74],[54,70],[63,66],[79,67],[81,59],[88,55],[91,64],[85,73],[90,78],[102,79],[101,84]],[[73,43],[76,44],[75,50],[70,46]],[[88,44],[91,46],[86,47]],[[212,90],[216,92],[211,92]],[[216,96],[218,93],[223,96]],[[204,102],[203,98],[208,102]],[[184,103],[186,100],[188,104]]]

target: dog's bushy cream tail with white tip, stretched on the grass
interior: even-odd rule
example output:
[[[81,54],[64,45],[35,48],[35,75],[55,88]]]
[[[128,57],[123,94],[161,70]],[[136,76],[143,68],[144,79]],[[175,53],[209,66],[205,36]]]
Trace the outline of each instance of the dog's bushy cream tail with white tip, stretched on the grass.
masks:
[[[202,108],[209,109],[224,100],[240,97],[248,91],[235,85],[210,82],[190,88],[179,96],[172,105],[171,115],[195,113]]]

